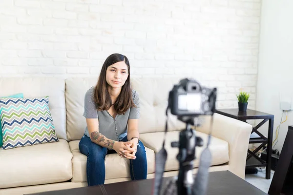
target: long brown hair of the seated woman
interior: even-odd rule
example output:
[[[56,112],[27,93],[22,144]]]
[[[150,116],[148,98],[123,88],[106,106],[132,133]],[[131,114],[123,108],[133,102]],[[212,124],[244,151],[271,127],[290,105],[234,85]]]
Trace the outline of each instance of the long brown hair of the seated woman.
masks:
[[[101,73],[98,79],[98,83],[94,90],[94,101],[96,103],[96,108],[98,111],[109,110],[113,105],[110,94],[108,92],[109,84],[106,82],[106,71],[108,66],[124,61],[128,68],[128,77],[121,88],[121,92],[117,97],[114,109],[118,115],[125,114],[130,107],[136,107],[132,100],[132,89],[130,86],[130,65],[126,56],[122,54],[111,54],[104,62]]]

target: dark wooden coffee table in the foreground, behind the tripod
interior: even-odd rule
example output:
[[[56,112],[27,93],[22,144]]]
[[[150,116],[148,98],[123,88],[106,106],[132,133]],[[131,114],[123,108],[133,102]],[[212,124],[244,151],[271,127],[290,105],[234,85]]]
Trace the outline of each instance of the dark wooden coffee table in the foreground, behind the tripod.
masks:
[[[164,178],[164,184],[170,177]],[[151,195],[153,179],[110,183],[31,195]],[[209,173],[208,195],[266,195],[229,171]]]

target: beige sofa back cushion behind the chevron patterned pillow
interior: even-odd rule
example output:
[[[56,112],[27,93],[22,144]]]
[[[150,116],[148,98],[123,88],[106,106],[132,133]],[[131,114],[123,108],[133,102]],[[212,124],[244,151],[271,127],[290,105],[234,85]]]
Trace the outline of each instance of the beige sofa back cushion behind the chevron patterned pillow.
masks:
[[[23,93],[24,98],[49,96],[56,134],[61,139],[66,136],[65,81],[55,77],[0,78],[0,97]]]

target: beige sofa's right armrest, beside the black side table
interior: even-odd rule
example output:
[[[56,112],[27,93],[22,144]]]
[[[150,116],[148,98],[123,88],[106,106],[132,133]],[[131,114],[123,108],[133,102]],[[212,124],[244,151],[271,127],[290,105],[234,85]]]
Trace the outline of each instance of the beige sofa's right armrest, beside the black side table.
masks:
[[[196,130],[209,134],[210,118],[206,117]],[[246,156],[252,126],[243,121],[215,113],[212,136],[229,143],[229,171],[244,179]]]

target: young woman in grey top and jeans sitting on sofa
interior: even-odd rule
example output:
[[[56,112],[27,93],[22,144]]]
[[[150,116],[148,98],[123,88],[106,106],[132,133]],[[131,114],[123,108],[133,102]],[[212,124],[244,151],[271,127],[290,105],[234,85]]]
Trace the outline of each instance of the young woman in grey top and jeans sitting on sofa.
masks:
[[[130,86],[126,56],[112,54],[104,62],[98,83],[84,97],[87,127],[79,150],[87,156],[88,186],[104,184],[105,156],[117,153],[130,160],[132,180],[146,179],[146,151],[139,140],[139,95]]]

